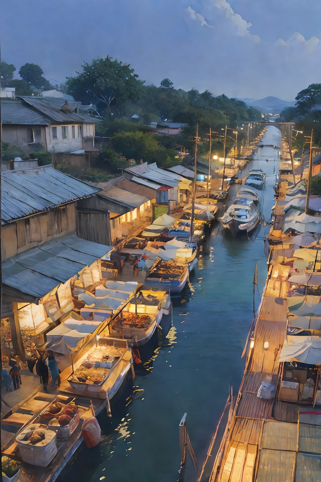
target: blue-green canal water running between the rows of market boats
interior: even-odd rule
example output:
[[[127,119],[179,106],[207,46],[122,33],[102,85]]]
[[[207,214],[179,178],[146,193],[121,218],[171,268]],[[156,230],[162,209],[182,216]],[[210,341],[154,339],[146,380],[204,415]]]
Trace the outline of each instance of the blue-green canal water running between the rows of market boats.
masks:
[[[268,126],[257,159],[243,171],[261,168],[267,175],[261,202],[267,222],[274,204],[281,132]],[[268,159],[268,162],[266,161]],[[275,161],[274,161],[275,160]],[[270,176],[270,177],[269,177]],[[228,203],[239,190],[231,186]],[[179,423],[186,426],[202,467],[218,419],[233,386],[238,391],[244,371],[241,354],[253,317],[253,276],[257,262],[256,307],[267,276],[263,224],[256,237],[235,238],[219,223],[203,247],[190,284],[173,299],[173,328],[146,370],[136,375],[135,390],[113,407],[112,418],[99,417],[103,440],[77,458],[61,475],[63,482],[175,482],[180,468]],[[125,399],[128,397],[128,400]],[[126,406],[126,404],[128,404]],[[194,482],[187,462],[185,481]]]

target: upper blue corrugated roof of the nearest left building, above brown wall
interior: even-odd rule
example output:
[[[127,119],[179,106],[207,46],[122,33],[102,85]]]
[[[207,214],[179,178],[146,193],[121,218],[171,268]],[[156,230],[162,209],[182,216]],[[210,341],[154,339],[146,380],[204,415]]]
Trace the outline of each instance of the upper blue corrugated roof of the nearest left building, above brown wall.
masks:
[[[100,191],[51,166],[1,174],[1,222],[9,222]]]

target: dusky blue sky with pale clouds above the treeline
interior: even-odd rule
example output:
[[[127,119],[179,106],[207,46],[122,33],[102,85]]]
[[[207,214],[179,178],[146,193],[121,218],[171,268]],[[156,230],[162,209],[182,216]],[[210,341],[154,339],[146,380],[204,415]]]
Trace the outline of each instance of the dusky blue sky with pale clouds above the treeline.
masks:
[[[293,101],[321,82],[320,0],[10,0],[1,60],[64,82],[107,54],[147,84]]]

